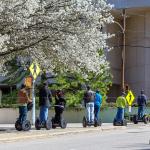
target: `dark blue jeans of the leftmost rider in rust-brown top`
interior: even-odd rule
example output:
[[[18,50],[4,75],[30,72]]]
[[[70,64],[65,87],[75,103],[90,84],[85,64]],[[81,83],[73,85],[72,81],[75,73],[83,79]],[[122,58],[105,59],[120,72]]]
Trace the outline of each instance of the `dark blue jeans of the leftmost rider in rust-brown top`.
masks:
[[[27,120],[27,106],[19,106],[19,122],[22,124]]]

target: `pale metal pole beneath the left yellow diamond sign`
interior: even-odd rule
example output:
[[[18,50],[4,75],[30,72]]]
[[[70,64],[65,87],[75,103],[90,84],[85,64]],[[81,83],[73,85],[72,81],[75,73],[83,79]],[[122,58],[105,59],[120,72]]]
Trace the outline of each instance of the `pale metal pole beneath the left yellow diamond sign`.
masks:
[[[32,103],[33,103],[33,109],[32,109],[32,124],[35,124],[35,80],[33,80],[33,87],[32,87]]]

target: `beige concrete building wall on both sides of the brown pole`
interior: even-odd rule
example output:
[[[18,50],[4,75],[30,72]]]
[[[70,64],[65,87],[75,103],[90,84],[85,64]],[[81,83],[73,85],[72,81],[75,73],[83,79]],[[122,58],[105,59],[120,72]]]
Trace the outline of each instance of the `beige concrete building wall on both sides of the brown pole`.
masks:
[[[129,84],[136,95],[143,88],[150,98],[150,9],[127,9],[126,12],[125,83]],[[115,17],[119,17],[121,23],[121,15],[115,14]],[[118,33],[120,29],[111,25],[109,31]],[[122,40],[122,35],[119,36]],[[113,83],[118,84],[120,83],[122,48],[115,47],[118,44],[117,40],[112,39],[109,42],[110,45],[111,43],[114,45],[114,50],[110,52],[108,57],[114,76]]]

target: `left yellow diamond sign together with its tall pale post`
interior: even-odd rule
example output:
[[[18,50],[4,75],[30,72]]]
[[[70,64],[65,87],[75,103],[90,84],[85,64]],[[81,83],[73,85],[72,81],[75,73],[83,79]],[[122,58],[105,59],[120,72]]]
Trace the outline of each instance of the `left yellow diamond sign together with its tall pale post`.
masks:
[[[40,68],[36,62],[33,62],[31,66],[29,67],[29,70],[33,76],[33,84],[32,84],[32,103],[33,103],[33,109],[32,109],[32,124],[35,124],[35,80],[37,76],[40,73]]]

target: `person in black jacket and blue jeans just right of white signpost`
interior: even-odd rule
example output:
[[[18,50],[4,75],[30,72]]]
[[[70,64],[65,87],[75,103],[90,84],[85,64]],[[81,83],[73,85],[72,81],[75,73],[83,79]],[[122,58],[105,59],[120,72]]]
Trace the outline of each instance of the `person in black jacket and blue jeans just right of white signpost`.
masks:
[[[40,106],[40,121],[45,123],[48,119],[48,108],[52,101],[51,91],[48,89],[48,84],[44,83],[42,88],[39,90],[39,106]]]

